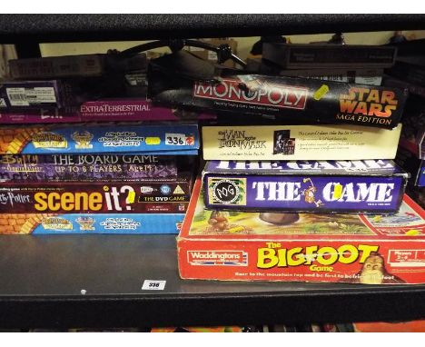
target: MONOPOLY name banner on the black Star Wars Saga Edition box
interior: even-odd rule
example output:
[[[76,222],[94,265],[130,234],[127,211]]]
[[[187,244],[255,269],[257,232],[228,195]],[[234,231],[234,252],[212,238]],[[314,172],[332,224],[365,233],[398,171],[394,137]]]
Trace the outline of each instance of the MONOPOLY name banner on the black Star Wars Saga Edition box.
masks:
[[[193,96],[300,110],[305,108],[307,102],[307,88],[262,84],[261,86],[256,85],[249,91],[245,89],[242,88],[241,81],[233,79],[223,79],[218,84],[196,82],[193,88]]]

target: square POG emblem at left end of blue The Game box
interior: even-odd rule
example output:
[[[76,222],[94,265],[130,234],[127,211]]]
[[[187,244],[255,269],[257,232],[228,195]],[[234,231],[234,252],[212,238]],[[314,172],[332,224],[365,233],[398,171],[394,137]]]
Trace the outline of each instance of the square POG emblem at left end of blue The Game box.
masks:
[[[208,177],[209,203],[246,205],[246,178]]]

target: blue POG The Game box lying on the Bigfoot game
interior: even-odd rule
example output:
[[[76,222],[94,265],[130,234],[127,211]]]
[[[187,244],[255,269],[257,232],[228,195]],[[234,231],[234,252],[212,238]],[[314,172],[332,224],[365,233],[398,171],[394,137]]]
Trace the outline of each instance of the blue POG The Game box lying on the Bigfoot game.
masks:
[[[203,193],[206,208],[216,210],[394,213],[408,177],[390,160],[212,161]]]

